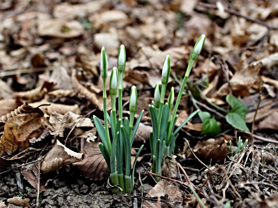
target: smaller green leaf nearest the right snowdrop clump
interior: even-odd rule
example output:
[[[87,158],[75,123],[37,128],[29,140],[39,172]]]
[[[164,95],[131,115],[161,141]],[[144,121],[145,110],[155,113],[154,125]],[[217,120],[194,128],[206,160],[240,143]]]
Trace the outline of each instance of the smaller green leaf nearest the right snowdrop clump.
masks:
[[[209,112],[199,112],[199,117],[203,123],[203,131],[201,135],[206,134],[207,136],[214,136],[221,132],[220,125],[217,123],[216,119],[211,117]]]

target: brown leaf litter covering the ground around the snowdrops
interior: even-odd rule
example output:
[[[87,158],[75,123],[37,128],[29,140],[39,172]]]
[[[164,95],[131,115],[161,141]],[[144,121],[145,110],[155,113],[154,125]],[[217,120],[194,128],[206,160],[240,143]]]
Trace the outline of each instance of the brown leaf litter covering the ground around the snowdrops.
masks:
[[[24,0],[3,1],[0,10],[0,207],[11,206],[8,202],[31,207],[130,207],[135,198],[139,200],[134,207],[141,202],[143,207],[201,207],[185,186],[190,184],[206,207],[277,206],[274,0]],[[167,54],[172,68],[169,85],[179,90],[201,34],[207,38],[189,76],[177,126],[196,108],[192,97],[205,116],[194,117],[181,129],[174,157],[164,158],[162,172],[169,182],[155,184],[137,171],[133,198],[109,193],[109,173],[92,122],[93,115],[103,115],[101,47],[107,49],[109,69],[116,66],[120,44],[127,49],[125,113],[133,84],[138,106],[147,109]],[[190,93],[192,97],[187,96]],[[238,106],[239,96],[247,108]],[[223,112],[212,104],[229,112],[229,118],[221,117]],[[134,142],[146,143],[138,169],[151,169],[150,125],[146,112]],[[248,138],[248,146],[231,157],[239,135]],[[16,177],[19,168],[23,181]],[[22,182],[25,190],[19,193],[17,184]]]

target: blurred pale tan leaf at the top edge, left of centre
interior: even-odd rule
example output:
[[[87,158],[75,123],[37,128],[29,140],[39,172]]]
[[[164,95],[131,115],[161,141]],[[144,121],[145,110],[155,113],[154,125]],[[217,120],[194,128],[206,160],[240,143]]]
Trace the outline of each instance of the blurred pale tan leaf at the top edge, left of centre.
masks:
[[[71,5],[68,2],[57,4],[53,9],[53,16],[56,18],[73,19],[94,14],[101,7],[107,4],[107,0],[96,0],[84,4]]]

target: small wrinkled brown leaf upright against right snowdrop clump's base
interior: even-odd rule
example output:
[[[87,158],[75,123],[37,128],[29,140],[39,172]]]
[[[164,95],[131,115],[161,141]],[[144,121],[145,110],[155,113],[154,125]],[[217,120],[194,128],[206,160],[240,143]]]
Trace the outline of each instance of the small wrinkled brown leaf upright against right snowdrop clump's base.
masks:
[[[162,174],[169,178],[176,178],[178,166],[175,157],[165,156],[161,165]]]

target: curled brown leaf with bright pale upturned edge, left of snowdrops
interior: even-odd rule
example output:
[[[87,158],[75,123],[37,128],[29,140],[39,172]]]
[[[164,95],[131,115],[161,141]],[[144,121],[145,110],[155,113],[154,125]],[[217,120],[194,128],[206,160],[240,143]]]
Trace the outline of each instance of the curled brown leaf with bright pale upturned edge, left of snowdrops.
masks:
[[[61,142],[57,140],[57,143],[42,161],[40,170],[43,174],[50,173],[51,171],[57,170],[69,163],[82,160],[83,157],[84,153],[76,153],[62,145]]]

